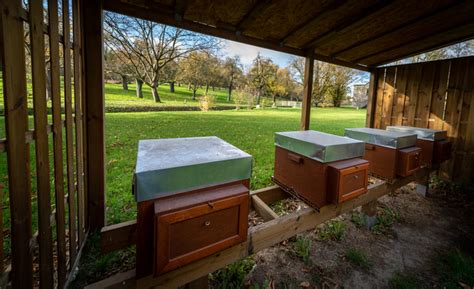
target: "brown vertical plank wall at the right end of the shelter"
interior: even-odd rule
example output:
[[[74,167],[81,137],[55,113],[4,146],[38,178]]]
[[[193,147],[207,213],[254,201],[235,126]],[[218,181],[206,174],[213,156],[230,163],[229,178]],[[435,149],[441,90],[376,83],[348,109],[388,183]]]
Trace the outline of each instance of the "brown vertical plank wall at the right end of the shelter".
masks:
[[[409,125],[444,129],[453,155],[441,174],[473,182],[474,57],[390,66],[376,70],[373,127]]]

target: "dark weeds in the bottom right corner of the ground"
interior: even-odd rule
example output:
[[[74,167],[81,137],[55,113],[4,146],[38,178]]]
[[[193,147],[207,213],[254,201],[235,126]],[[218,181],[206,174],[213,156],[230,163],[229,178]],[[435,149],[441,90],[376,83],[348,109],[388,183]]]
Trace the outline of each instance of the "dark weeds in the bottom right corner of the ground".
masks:
[[[438,259],[438,274],[444,288],[474,288],[474,259],[458,249],[451,250]]]

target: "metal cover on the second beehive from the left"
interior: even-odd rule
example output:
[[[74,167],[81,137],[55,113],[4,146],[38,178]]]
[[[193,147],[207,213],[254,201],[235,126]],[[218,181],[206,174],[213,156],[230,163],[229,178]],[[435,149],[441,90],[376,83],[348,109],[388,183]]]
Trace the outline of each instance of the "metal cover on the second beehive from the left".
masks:
[[[364,156],[364,143],[324,132],[288,131],[275,133],[275,145],[322,163]]]

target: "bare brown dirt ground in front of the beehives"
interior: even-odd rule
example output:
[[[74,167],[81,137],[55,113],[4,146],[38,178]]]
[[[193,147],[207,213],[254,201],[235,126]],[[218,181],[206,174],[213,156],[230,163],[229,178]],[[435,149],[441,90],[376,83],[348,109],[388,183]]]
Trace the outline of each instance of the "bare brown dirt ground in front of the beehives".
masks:
[[[345,223],[342,240],[321,240],[321,228],[298,236],[312,240],[306,264],[295,254],[296,238],[263,250],[254,256],[256,266],[246,284],[250,288],[390,288],[393,276],[408,272],[423,287],[439,288],[436,260],[440,254],[457,248],[474,256],[472,204],[443,189],[432,189],[429,197],[423,197],[410,184],[378,200],[379,211],[396,212],[388,230],[374,233],[357,226],[354,212],[347,213],[340,217]],[[349,249],[363,252],[370,268],[346,260]]]

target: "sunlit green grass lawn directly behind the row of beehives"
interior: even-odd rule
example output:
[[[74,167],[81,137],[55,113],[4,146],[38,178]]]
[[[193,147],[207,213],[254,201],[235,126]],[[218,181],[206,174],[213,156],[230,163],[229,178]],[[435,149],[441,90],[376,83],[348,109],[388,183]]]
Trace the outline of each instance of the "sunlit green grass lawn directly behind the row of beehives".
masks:
[[[258,189],[271,185],[274,132],[297,130],[299,120],[297,109],[107,114],[107,222],[136,216],[131,181],[140,139],[218,136],[253,156],[251,188]],[[312,110],[312,129],[342,135],[346,127],[364,125],[365,110]]]

